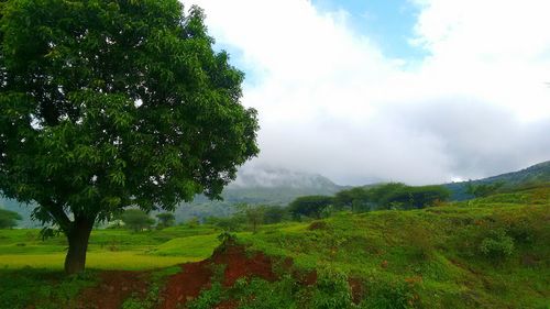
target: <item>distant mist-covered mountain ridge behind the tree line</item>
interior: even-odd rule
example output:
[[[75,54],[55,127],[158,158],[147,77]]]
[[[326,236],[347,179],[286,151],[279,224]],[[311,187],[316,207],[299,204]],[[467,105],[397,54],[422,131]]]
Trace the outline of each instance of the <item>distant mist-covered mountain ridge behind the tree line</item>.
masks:
[[[505,181],[507,186],[529,183],[550,183],[550,161],[541,162],[529,167],[504,173],[486,178],[442,184],[451,191],[452,200],[472,198],[466,194],[466,185],[491,184]],[[374,184],[375,185],[375,184]],[[367,185],[373,186],[373,185]],[[177,221],[191,218],[205,219],[210,216],[226,217],[235,211],[234,205],[265,205],[286,206],[295,198],[309,195],[334,195],[340,190],[351,188],[340,186],[329,178],[310,173],[295,172],[275,167],[244,167],[238,173],[235,181],[228,185],[222,191],[221,201],[209,200],[205,196],[196,196],[193,202],[182,203],[175,211]],[[14,200],[0,198],[0,208],[16,211],[23,217],[20,225],[38,227],[30,219],[32,207],[21,205]]]

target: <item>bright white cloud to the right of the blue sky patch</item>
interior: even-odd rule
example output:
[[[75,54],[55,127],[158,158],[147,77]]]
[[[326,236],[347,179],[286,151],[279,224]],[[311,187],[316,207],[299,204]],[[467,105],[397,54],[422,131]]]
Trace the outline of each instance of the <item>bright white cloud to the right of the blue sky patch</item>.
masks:
[[[524,120],[550,114],[550,2],[421,0],[420,74],[447,93],[469,95]],[[441,84],[449,84],[444,86]]]

